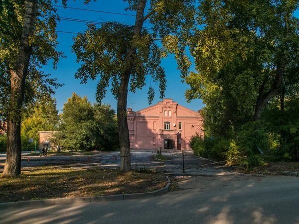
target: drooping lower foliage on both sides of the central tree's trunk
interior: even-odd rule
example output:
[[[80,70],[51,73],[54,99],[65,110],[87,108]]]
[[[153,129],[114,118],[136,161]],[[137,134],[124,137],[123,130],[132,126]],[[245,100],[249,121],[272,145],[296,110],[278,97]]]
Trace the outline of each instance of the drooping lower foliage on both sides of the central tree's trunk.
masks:
[[[146,85],[145,77],[150,75],[153,82],[159,82],[160,96],[164,96],[166,79],[164,69],[160,67],[160,49],[146,29],[143,29],[139,39],[132,40],[133,28],[118,22],[106,22],[100,28],[88,24],[87,30],[74,38],[72,51],[77,55],[77,62],[82,62],[75,77],[81,79],[81,83],[87,83],[88,79],[95,80],[100,76],[96,93],[99,102],[105,97],[110,85],[112,94],[118,98],[131,41],[138,50],[129,90],[135,93],[136,89],[142,89]],[[154,91],[150,87],[149,102],[153,97]]]

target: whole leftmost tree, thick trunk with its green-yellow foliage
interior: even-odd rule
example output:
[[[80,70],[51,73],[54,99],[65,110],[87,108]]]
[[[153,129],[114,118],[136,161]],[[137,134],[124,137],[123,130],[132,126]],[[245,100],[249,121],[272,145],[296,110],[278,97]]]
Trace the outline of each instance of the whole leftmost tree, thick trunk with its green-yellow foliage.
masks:
[[[0,7],[0,116],[7,120],[2,176],[16,176],[21,168],[22,113],[30,103],[50,98],[61,86],[40,68],[51,59],[55,68],[62,53],[55,50],[57,14],[51,0],[11,0]]]

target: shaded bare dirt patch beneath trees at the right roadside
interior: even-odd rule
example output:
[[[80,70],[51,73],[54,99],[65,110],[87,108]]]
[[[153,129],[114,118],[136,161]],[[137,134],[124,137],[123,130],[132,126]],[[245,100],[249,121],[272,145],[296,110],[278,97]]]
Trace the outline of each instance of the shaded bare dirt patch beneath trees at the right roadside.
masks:
[[[251,173],[282,175],[284,171],[299,172],[299,162],[269,162],[263,166],[255,167]]]

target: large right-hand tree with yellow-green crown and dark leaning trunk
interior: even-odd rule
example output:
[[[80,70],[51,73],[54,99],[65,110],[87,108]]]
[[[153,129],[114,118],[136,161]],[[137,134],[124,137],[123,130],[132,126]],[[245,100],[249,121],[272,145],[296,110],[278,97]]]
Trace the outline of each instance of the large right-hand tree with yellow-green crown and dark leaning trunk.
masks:
[[[222,82],[231,78],[226,77],[228,73],[243,79],[241,86],[233,88],[244,92],[244,84],[249,84],[255,98],[253,120],[261,119],[283,77],[298,66],[297,8],[297,1],[200,1],[204,29],[195,33],[190,47],[198,76],[206,85],[222,90]],[[187,97],[201,97],[204,88],[193,85]]]

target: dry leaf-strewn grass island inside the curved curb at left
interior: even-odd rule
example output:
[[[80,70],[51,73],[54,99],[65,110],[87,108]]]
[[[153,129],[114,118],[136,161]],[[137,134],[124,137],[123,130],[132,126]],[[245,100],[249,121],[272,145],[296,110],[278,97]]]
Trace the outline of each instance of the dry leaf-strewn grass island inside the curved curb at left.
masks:
[[[151,192],[166,184],[162,174],[38,167],[16,178],[0,178],[0,203]]]

